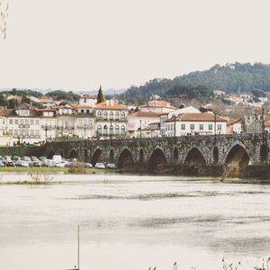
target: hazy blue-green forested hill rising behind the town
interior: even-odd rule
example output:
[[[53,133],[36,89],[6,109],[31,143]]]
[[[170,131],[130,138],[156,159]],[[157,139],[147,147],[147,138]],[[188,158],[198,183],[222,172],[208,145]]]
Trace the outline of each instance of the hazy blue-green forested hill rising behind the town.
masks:
[[[223,89],[227,93],[249,93],[254,89],[270,92],[270,65],[227,64],[215,65],[205,71],[195,71],[174,79],[158,79],[148,81],[145,85],[131,86],[121,98],[132,103],[145,102],[152,94],[165,97],[167,91],[181,85],[202,85],[209,89]]]

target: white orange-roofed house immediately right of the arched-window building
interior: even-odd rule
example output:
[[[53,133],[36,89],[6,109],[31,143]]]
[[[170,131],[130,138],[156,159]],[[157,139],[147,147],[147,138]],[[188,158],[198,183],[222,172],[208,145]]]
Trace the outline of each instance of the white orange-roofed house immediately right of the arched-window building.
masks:
[[[128,115],[128,132],[130,138],[139,138],[140,130],[148,129],[151,123],[160,122],[156,112],[133,112]]]

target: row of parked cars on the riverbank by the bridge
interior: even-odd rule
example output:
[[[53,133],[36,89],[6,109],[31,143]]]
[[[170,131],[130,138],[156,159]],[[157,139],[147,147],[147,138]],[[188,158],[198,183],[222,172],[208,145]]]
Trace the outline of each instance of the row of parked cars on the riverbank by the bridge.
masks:
[[[68,167],[76,163],[76,158],[65,159],[59,155],[54,155],[51,159],[47,157],[18,157],[18,156],[0,156],[0,166],[49,166],[49,167]],[[91,163],[80,162],[81,165],[91,168]],[[96,168],[116,168],[113,163],[96,163]]]

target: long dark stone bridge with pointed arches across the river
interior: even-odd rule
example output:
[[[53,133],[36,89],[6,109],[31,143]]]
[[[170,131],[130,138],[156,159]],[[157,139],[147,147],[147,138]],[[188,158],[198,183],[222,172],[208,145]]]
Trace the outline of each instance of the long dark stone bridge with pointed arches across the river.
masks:
[[[268,133],[182,136],[149,139],[64,139],[48,141],[46,157],[55,154],[91,162],[111,162],[153,172],[158,166],[193,168],[268,164]]]

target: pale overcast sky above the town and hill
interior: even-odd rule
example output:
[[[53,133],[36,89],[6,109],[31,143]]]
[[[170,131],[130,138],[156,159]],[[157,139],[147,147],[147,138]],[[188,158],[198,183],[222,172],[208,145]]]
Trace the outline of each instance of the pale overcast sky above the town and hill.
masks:
[[[217,63],[270,63],[269,0],[8,2],[0,88],[122,88]]]

